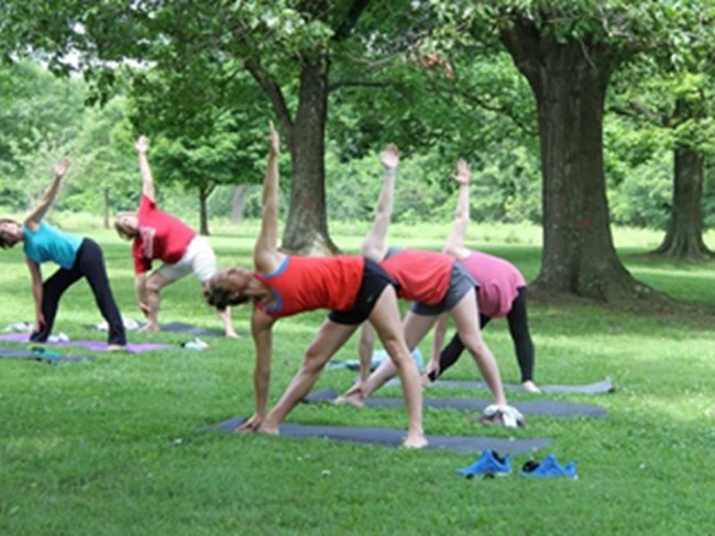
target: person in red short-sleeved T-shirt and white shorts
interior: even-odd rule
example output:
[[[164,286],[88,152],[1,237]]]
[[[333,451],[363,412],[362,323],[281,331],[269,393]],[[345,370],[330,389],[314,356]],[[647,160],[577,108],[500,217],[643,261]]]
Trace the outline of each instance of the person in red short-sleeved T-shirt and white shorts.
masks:
[[[154,178],[146,158],[148,139],[141,136],[134,147],[142,175],[142,199],[138,212],[117,214],[114,228],[122,238],[133,241],[136,301],[146,316],[144,330],[156,331],[161,328],[157,314],[162,289],[191,272],[206,288],[206,281],[216,273],[216,255],[206,238],[156,206]],[[163,265],[147,276],[156,259]],[[219,310],[219,316],[226,336],[238,337],[230,310]]]

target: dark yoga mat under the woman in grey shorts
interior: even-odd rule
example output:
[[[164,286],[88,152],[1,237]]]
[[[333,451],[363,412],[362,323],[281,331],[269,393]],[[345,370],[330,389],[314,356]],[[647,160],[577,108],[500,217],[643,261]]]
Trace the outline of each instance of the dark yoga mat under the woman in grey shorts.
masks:
[[[312,404],[320,402],[332,402],[338,397],[334,389],[321,389],[312,392],[304,399],[304,402]],[[422,405],[427,407],[446,407],[450,410],[477,410],[483,411],[492,402],[476,399],[422,399]],[[395,407],[405,405],[405,401],[398,398],[381,399],[371,397],[365,400],[369,407]],[[514,407],[525,415],[551,415],[557,417],[570,415],[588,415],[593,417],[604,416],[604,407],[592,404],[576,404],[573,402],[562,402],[559,400],[539,400],[532,402],[514,402]]]

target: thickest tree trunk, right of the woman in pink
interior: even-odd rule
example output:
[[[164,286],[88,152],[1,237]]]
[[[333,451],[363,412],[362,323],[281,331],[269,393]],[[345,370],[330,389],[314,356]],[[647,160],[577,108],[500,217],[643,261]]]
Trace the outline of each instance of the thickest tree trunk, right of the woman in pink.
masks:
[[[538,291],[613,302],[648,289],[616,255],[603,168],[607,49],[557,43],[528,21],[502,40],[538,107],[543,177],[543,252]]]

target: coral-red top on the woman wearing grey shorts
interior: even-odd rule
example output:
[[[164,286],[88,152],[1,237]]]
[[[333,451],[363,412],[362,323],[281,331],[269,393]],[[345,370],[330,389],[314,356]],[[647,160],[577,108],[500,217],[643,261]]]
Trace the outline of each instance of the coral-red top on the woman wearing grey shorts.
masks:
[[[419,249],[403,249],[380,264],[399,283],[400,298],[425,305],[442,301],[453,265],[454,257]]]

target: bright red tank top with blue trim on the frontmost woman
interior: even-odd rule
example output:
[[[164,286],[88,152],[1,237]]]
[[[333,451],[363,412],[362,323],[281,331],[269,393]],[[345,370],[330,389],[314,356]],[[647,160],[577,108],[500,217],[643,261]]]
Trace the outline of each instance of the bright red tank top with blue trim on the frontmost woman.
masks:
[[[274,306],[261,302],[256,302],[256,306],[275,317],[316,309],[345,311],[355,304],[364,265],[363,257],[348,255],[286,256],[273,273],[255,273],[260,281],[271,287],[275,300]]]

